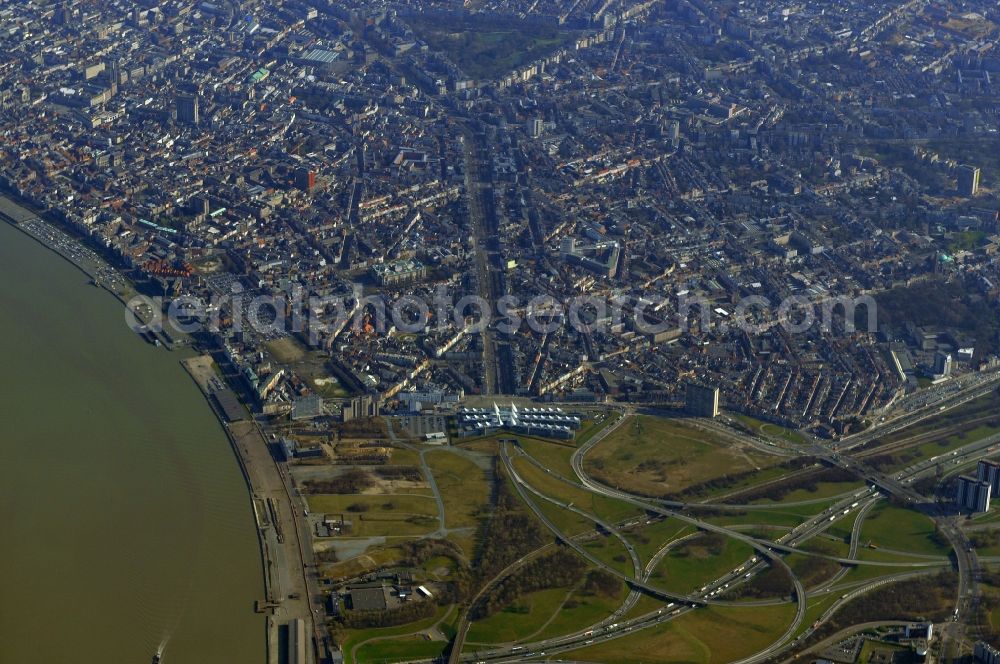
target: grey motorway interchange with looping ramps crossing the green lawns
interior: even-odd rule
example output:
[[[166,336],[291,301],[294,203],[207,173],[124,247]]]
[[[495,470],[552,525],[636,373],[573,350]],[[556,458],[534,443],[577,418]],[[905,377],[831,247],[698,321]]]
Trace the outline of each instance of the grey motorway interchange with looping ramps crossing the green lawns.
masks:
[[[996,374],[977,375],[972,378],[966,378],[963,382],[956,382],[955,384],[949,385],[936,392],[924,394],[919,401],[911,400],[903,403],[899,406],[901,414],[885,418],[884,421],[878,423],[873,429],[863,434],[843,439],[840,444],[836,446],[836,451],[831,449],[832,446],[824,445],[812,439],[808,439],[805,444],[796,445],[794,447],[784,446],[784,449],[780,450],[781,452],[785,454],[814,456],[821,459],[826,464],[837,466],[853,473],[856,477],[866,482],[866,487],[850,494],[845,494],[840,500],[828,507],[822,513],[807,519],[804,523],[796,526],[789,533],[774,542],[758,539],[737,530],[718,526],[698,518],[698,510],[704,509],[707,507],[706,505],[640,498],[620,489],[605,486],[590,478],[589,475],[587,475],[583,464],[586,454],[603,439],[605,439],[618,426],[620,426],[627,419],[625,417],[620,418],[615,423],[606,427],[603,431],[599,432],[591,440],[574,452],[571,463],[574,474],[576,475],[575,479],[562,477],[557,473],[552,472],[550,469],[545,468],[540,462],[527,455],[520,448],[515,449],[508,444],[502,444],[501,459],[504,463],[505,469],[512,478],[517,491],[521,494],[525,503],[535,512],[541,522],[553,532],[560,542],[574,548],[590,563],[625,580],[631,587],[632,592],[629,594],[623,606],[612,614],[612,616],[588,629],[581,630],[580,632],[574,634],[568,634],[558,638],[535,643],[495,648],[486,653],[476,653],[474,655],[459,655],[456,653],[454,660],[458,661],[460,659],[461,661],[507,662],[548,658],[549,656],[557,653],[575,650],[600,640],[619,638],[631,633],[634,630],[644,629],[667,620],[672,620],[673,618],[695,610],[700,606],[732,606],[737,604],[741,606],[753,606],[754,604],[760,605],[787,602],[788,599],[781,598],[758,600],[756,602],[733,602],[723,599],[724,594],[731,588],[734,588],[741,583],[746,583],[749,579],[753,578],[755,574],[767,569],[768,564],[772,564],[784,568],[789,577],[792,579],[792,601],[796,602],[798,610],[796,612],[795,619],[792,621],[791,625],[784,634],[778,637],[768,648],[744,659],[741,664],[754,664],[756,662],[769,659],[786,650],[789,650],[797,644],[800,639],[808,636],[813,631],[813,627],[809,627],[799,637],[796,637],[793,640],[793,636],[797,631],[799,631],[802,620],[804,619],[806,591],[802,587],[801,582],[785,563],[783,559],[784,554],[797,552],[801,555],[818,556],[834,560],[845,566],[879,565],[881,567],[901,568],[900,574],[892,575],[888,578],[883,577],[873,579],[852,589],[828,609],[828,611],[819,619],[819,623],[825,622],[845,603],[860,596],[861,594],[878,588],[880,585],[909,578],[911,576],[926,574],[940,569],[944,565],[950,564],[949,561],[944,558],[914,560],[913,562],[874,562],[857,559],[861,539],[861,526],[864,521],[864,516],[866,512],[885,495],[896,496],[898,499],[909,502],[914,506],[919,505],[923,511],[927,512],[928,515],[935,520],[939,527],[939,531],[952,544],[952,547],[955,550],[960,577],[955,616],[958,617],[966,615],[966,613],[974,605],[977,597],[976,579],[979,568],[975,552],[969,545],[968,539],[965,537],[964,533],[958,527],[955,519],[942,512],[938,505],[929,502],[924,496],[917,493],[911,485],[917,479],[926,477],[927,475],[936,472],[939,465],[944,462],[954,465],[965,464],[984,456],[986,453],[994,449],[995,446],[1000,444],[1000,436],[993,436],[977,441],[958,450],[949,452],[947,454],[947,458],[944,460],[935,457],[934,459],[919,462],[893,476],[887,476],[869,467],[865,464],[862,458],[859,458],[858,455],[850,454],[850,451],[863,447],[881,436],[885,436],[905,427],[912,426],[916,422],[940,413],[942,410],[948,410],[973,399],[979,398],[995,389],[998,381],[1000,381],[1000,376]],[[714,422],[700,422],[699,424],[713,430],[718,429],[720,426],[718,423]],[[763,440],[761,437],[757,436],[747,437],[728,428],[725,432],[726,435],[730,437],[742,437],[743,442],[751,443],[755,447],[763,445],[771,447],[772,451],[779,451],[773,449],[775,447],[775,443],[773,441]],[[582,487],[592,493],[604,495],[635,505],[636,507],[645,510],[648,514],[656,514],[667,518],[677,519],[693,525],[700,530],[718,532],[726,537],[743,541],[751,546],[757,555],[753,556],[740,567],[729,571],[724,576],[691,594],[670,592],[657,587],[649,582],[649,571],[651,570],[650,565],[642,568],[639,558],[631,543],[620,533],[618,527],[619,524],[611,524],[602,521],[572,504],[556,500],[540,491],[537,487],[531,486],[518,473],[517,467],[514,463],[515,458],[523,458],[527,462],[539,466],[550,475],[553,481],[569,482],[577,488]],[[560,529],[545,515],[544,511],[539,507],[537,501],[545,501],[555,504],[562,509],[574,512],[579,516],[591,520],[599,526],[600,529],[618,538],[629,554],[633,573],[625,574],[616,568],[610,567],[594,556],[588,549],[583,547],[576,539],[567,537],[565,533],[562,533]],[[713,507],[720,506],[716,505]],[[745,509],[747,507],[754,506],[737,505],[726,507]],[[803,542],[823,533],[826,529],[833,525],[834,522],[851,514],[854,515],[855,521],[852,529],[850,550],[846,557],[826,556],[797,548]],[[668,547],[666,546],[662,548],[657,556],[662,556],[666,552],[667,548]],[[833,587],[837,581],[839,581],[844,574],[846,574],[847,571],[848,568],[845,567],[841,570],[841,572],[835,575],[835,577],[824,582],[821,587],[814,589],[813,594],[833,592]],[[621,619],[620,616],[624,615],[634,605],[639,592],[661,598],[664,602],[667,602],[665,608],[638,618],[630,620]],[[959,625],[958,622],[955,624]],[[462,630],[463,632],[467,631],[468,623],[464,623],[462,627],[464,628]],[[955,634],[954,636],[955,638],[960,638],[960,634]],[[461,639],[458,643],[456,643],[456,645],[460,646],[460,644]]]

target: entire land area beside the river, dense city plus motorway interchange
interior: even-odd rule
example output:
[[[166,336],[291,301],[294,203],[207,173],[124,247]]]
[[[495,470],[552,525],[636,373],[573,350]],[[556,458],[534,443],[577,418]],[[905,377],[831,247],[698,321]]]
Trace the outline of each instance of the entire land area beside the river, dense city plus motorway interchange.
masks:
[[[998,40],[5,2],[0,214],[197,349],[270,661],[994,662]]]

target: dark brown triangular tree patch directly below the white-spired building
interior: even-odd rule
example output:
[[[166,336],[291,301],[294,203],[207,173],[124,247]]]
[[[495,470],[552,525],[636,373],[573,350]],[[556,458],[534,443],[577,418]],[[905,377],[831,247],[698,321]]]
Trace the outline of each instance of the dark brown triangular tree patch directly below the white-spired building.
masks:
[[[535,519],[521,507],[506,480],[497,483],[493,514],[486,519],[476,560],[479,578],[491,579],[524,554],[545,543]]]

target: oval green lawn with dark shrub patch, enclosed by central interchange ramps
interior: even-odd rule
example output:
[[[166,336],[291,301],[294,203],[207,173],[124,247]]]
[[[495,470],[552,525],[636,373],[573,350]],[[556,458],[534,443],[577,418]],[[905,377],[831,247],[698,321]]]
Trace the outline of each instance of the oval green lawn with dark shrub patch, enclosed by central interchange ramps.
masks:
[[[710,542],[720,543],[721,547],[716,550]],[[687,594],[739,567],[753,555],[753,549],[745,542],[702,533],[671,549],[657,564],[650,580],[668,590]]]

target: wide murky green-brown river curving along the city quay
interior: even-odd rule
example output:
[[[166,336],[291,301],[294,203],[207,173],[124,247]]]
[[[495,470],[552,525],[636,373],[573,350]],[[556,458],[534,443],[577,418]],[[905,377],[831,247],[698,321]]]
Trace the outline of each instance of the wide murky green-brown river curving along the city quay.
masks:
[[[256,664],[243,476],[178,361],[0,221],[0,664]]]

